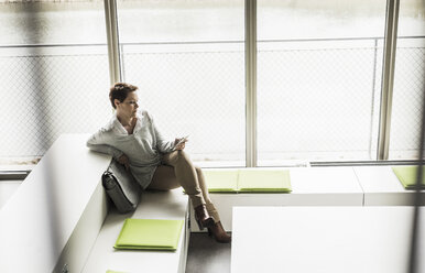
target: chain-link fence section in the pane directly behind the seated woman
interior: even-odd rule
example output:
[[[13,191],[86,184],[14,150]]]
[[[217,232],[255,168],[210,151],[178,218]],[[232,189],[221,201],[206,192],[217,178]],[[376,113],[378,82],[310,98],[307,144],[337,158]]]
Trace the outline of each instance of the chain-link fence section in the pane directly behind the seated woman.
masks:
[[[243,43],[123,46],[126,81],[168,139],[189,134],[194,161],[244,166]]]

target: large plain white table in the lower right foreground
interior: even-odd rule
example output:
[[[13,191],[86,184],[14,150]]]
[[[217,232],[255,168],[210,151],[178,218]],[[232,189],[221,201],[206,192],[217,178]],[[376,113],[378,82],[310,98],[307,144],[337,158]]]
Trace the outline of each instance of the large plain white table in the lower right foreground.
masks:
[[[231,272],[405,273],[412,217],[413,207],[236,207]]]

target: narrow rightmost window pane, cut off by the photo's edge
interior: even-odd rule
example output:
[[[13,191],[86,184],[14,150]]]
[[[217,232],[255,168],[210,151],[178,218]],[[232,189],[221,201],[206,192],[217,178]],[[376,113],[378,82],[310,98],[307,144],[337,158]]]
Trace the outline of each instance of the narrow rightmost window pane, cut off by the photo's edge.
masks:
[[[417,160],[425,80],[424,1],[400,1],[390,160]]]

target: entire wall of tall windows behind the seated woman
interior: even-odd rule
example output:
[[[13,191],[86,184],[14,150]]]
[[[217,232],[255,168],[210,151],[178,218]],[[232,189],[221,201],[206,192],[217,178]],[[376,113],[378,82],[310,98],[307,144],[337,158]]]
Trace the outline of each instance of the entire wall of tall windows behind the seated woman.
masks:
[[[200,166],[255,165],[255,149],[259,166],[378,160],[386,0],[258,0],[257,127],[246,96],[244,0],[117,2],[121,79],[139,86],[141,108],[165,136],[189,134]],[[390,160],[415,160],[425,7],[400,2],[389,150]],[[0,3],[0,163],[42,156],[61,133],[108,121],[103,9]]]

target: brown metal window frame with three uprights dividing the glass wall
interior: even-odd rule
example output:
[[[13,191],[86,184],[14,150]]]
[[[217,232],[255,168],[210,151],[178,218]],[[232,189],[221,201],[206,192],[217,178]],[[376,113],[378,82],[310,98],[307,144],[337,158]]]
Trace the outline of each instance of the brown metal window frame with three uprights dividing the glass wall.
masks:
[[[413,161],[389,161],[390,127],[393,96],[393,80],[397,40],[400,0],[386,0],[384,56],[382,68],[382,87],[379,118],[379,136],[377,145],[377,161],[350,162],[310,162],[312,165],[348,165],[371,163],[400,162],[414,164]],[[108,57],[111,84],[122,80],[122,64],[120,61],[120,45],[118,35],[117,1],[105,0]],[[244,55],[246,55],[246,167],[258,165],[258,133],[257,133],[257,0],[244,0]]]

